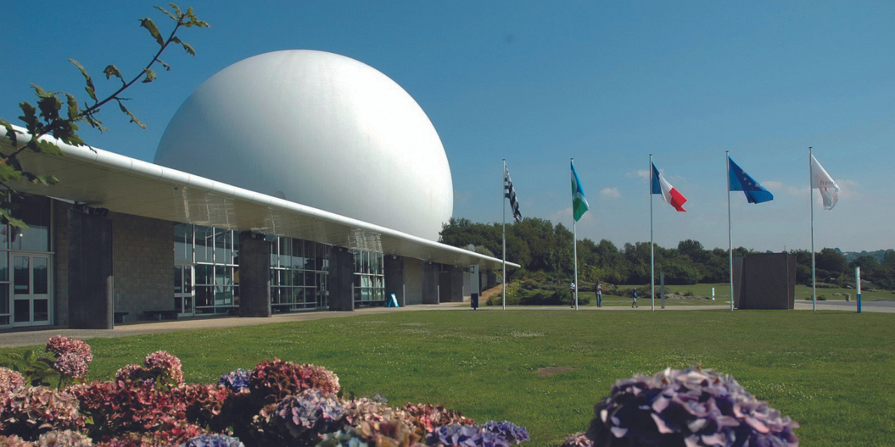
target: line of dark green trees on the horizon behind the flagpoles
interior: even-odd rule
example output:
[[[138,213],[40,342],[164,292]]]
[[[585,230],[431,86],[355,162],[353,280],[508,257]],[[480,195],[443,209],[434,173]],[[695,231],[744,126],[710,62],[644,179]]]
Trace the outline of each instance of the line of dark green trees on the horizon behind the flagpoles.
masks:
[[[452,218],[444,224],[440,241],[455,247],[473,244],[476,251],[500,257],[501,224],[473,223],[469,219]],[[734,256],[755,253],[737,247]],[[796,256],[797,283],[811,283],[811,252],[789,250]],[[882,261],[872,254],[860,255],[848,262],[838,249],[822,249],[815,253],[818,284],[847,285],[854,283],[855,266],[861,267],[861,278],[879,287],[895,289],[895,250],[888,250]],[[555,283],[567,283],[574,276],[572,232],[562,223],[554,225],[545,219],[528,217],[522,223],[507,224],[507,260],[522,266],[507,272],[522,279],[543,274]],[[676,248],[655,246],[656,277],[665,273],[671,285],[695,283],[727,283],[729,261],[726,249],[705,249],[698,240],[681,240]],[[621,248],[609,240],[578,241],[578,278],[584,282],[597,280],[612,284],[644,284],[650,282],[650,243],[626,243]]]

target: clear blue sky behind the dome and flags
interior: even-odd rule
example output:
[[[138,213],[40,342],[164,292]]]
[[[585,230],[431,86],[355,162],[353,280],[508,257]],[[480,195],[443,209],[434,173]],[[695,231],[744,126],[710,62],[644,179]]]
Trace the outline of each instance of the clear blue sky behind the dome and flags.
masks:
[[[69,57],[95,78],[108,63],[133,73],[157,48],[138,19],[167,27],[153,4],[4,2],[0,116],[14,119],[19,101],[33,103],[30,82],[81,94]],[[456,217],[500,221],[500,160],[507,158],[523,215],[571,227],[574,157],[591,204],[578,237],[649,240],[641,174],[652,153],[689,199],[685,214],[653,198],[656,242],[727,248],[729,150],[775,196],[747,205],[742,193],[731,193],[734,245],[807,249],[813,146],[842,189],[833,211],[815,207],[816,248],[895,248],[895,3],[180,5],[211,23],[181,34],[196,57],[173,51],[164,57],[171,72],[128,91],[148,130],[109,108],[110,131],[82,132],[93,146],[151,161],[179,105],[215,72],[251,55],[318,49],[384,72],[422,106],[451,164]]]

